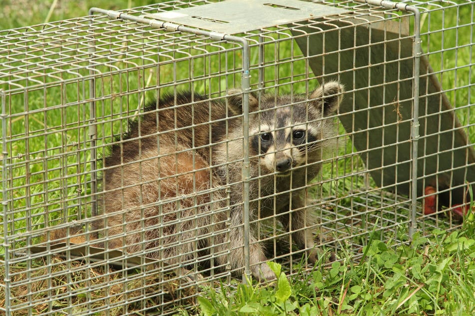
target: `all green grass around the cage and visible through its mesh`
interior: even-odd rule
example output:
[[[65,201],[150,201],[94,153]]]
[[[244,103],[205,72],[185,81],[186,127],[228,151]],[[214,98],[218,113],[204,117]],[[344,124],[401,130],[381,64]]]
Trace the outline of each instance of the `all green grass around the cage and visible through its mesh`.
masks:
[[[119,9],[127,8],[131,6],[139,6],[145,4],[151,4],[156,1],[138,1],[138,0],[96,0],[96,1],[2,1],[2,10],[0,12],[0,29],[23,27],[27,25],[39,24],[47,21],[54,21],[59,19],[65,19],[70,17],[77,17],[87,14],[87,10],[91,6],[102,7],[106,9]],[[459,14],[460,16],[470,16],[472,14],[473,7],[466,5],[462,7]],[[457,23],[457,8],[448,8],[445,12],[445,27],[456,25]],[[432,29],[440,30],[440,25],[435,26],[442,16],[442,10],[434,12],[431,20],[423,16],[423,33],[427,33]],[[459,22],[460,23],[460,22]],[[458,47],[453,49],[461,43],[469,43],[470,38],[475,36],[474,26],[466,25],[457,29],[447,29],[444,32],[435,31],[424,35],[424,50],[426,52],[433,52],[429,58],[434,70],[437,73],[439,80],[442,82],[443,89],[448,91],[448,97],[455,106],[458,107],[457,114],[464,125],[469,125],[470,122],[474,122],[474,111],[470,111],[468,105],[475,103],[475,93],[470,91],[473,87],[457,89],[457,87],[464,87],[468,84],[472,84],[475,81],[475,73],[471,68],[473,60],[473,45],[466,47]],[[472,36],[472,37],[471,37]],[[295,45],[296,46],[296,45]],[[446,49],[444,52],[441,48]],[[274,47],[274,50],[266,51],[269,60],[274,59],[274,54],[280,49],[289,50],[288,47]],[[298,48],[295,48],[298,50]],[[299,54],[296,51],[296,54]],[[238,59],[239,56],[236,58]],[[230,62],[230,61],[229,61]],[[222,64],[226,64],[225,60]],[[255,63],[255,61],[253,62]],[[230,62],[232,64],[232,62]],[[194,65],[199,71],[202,65]],[[266,72],[266,81],[272,83],[276,81],[276,78],[280,78],[279,84],[284,82],[290,82],[304,78],[302,67],[305,66],[304,61],[296,62],[292,65],[295,71],[295,77],[290,78],[289,69],[287,65],[283,65],[278,68],[277,74],[272,69]],[[188,69],[189,69],[188,65]],[[224,66],[223,66],[224,67]],[[183,68],[187,68],[184,65]],[[443,71],[444,70],[444,71]],[[222,69],[212,69],[210,73],[220,72]],[[443,71],[443,72],[442,72]],[[104,78],[102,84],[101,94],[109,96],[114,91],[120,91],[120,87],[129,83],[136,82],[137,77],[143,75],[139,72],[134,73],[131,77],[121,78],[121,84],[117,81],[110,83],[109,78]],[[166,77],[170,76],[170,71],[160,73],[160,77],[167,81]],[[182,74],[183,78],[186,78],[188,74]],[[145,73],[145,77],[151,78],[148,82],[148,87],[152,87],[156,83],[156,73],[153,69]],[[219,88],[210,88],[210,86],[225,85],[226,80],[232,82],[237,80],[236,76],[231,78],[225,78],[224,76],[219,78],[210,79],[208,83],[205,80],[200,80],[197,87],[198,91],[204,92],[207,90],[220,90]],[[239,81],[238,81],[239,82]],[[135,83],[130,83],[133,88]],[[239,85],[239,84],[238,84]],[[182,85],[186,87],[186,84]],[[295,87],[294,87],[295,86]],[[290,88],[288,86],[282,87],[283,92],[288,92]],[[287,90],[286,90],[287,89]],[[295,92],[305,92],[305,87],[294,84],[292,89]],[[310,87],[309,89],[312,89]],[[83,96],[76,93],[78,89],[70,89],[66,93],[67,100],[83,99]],[[469,91],[471,92],[469,97]],[[48,96],[48,100],[54,100],[60,95],[60,91],[53,92]],[[28,104],[31,106],[29,110],[41,109],[43,106],[43,100],[41,100],[42,91],[39,91],[37,95],[32,95],[32,100]],[[127,104],[140,105],[141,101],[137,94],[127,97]],[[21,98],[21,96],[19,97]],[[119,107],[121,98],[112,100],[109,104],[103,104],[102,109],[108,118],[112,118],[112,108]],[[145,93],[145,99],[153,98],[152,92]],[[112,99],[112,98],[111,98]],[[71,101],[72,102],[72,101]],[[19,104],[21,104],[21,100]],[[134,109],[130,110],[130,113]],[[18,110],[20,112],[21,110]],[[61,150],[51,149],[51,144],[59,146],[61,142],[67,144],[81,140],[84,137],[84,129],[76,128],[76,134],[71,133],[57,133],[51,134],[47,138],[48,147],[45,147],[44,136],[41,134],[44,131],[45,124],[48,127],[48,131],[53,131],[54,127],[59,130],[64,124],[63,121],[68,122],[68,118],[77,116],[83,116],[84,113],[80,112],[79,106],[72,107],[67,111],[61,112],[60,110],[41,112],[38,115],[31,114],[29,117],[23,118],[18,116],[12,124],[13,134],[20,135],[24,133],[24,124],[28,121],[30,131],[38,131],[37,137],[32,137],[30,144],[30,151],[35,152],[37,157],[45,155],[51,157],[52,155],[61,153]],[[109,111],[109,112],[107,112]],[[46,113],[51,114],[51,117],[46,117]],[[78,114],[79,113],[79,114]],[[113,117],[116,118],[116,117]],[[74,122],[68,122],[74,123]],[[99,131],[102,136],[106,137],[111,135],[111,131],[119,133],[120,127],[124,125],[122,120],[118,120],[113,126],[103,126],[103,130]],[[474,127],[467,128],[467,131],[473,132]],[[341,131],[343,133],[343,131]],[[34,134],[34,133],[33,133]],[[471,139],[475,137],[475,133],[469,133]],[[104,139],[105,140],[105,139]],[[105,142],[110,143],[110,139]],[[472,140],[473,141],[473,140]],[[18,143],[18,146],[20,143]],[[54,146],[53,146],[54,147]],[[16,152],[24,152],[24,148],[15,148]],[[351,144],[345,143],[342,146],[340,155],[350,155],[352,153]],[[82,155],[82,156],[81,156]],[[14,213],[15,225],[23,225],[20,229],[19,226],[14,228],[16,233],[23,233],[28,231],[28,224],[26,218],[32,218],[32,225],[34,227],[43,227],[45,222],[49,225],[55,225],[64,214],[65,205],[64,196],[68,197],[71,201],[80,200],[81,194],[78,193],[80,186],[69,185],[66,189],[64,187],[64,180],[62,178],[67,175],[67,183],[84,183],[84,175],[76,175],[75,172],[80,169],[80,166],[76,165],[76,161],[86,161],[90,157],[88,152],[82,152],[80,156],[68,155],[65,159],[50,159],[46,162],[48,172],[43,172],[45,166],[42,162],[31,163],[29,166],[29,172],[33,175],[30,177],[29,192],[16,193],[18,196],[22,196],[26,193],[29,194],[30,205],[26,207],[26,199],[18,199],[15,201],[15,207],[18,209],[26,209],[25,211],[19,211]],[[59,161],[58,161],[59,160]],[[62,163],[62,165],[61,165]],[[67,167],[64,167],[66,165]],[[348,174],[349,171],[355,168],[360,170],[362,168],[361,161],[355,159],[348,163],[344,159],[339,159],[336,162],[338,169],[342,174]],[[329,179],[334,174],[332,168],[326,168],[322,175],[323,179]],[[13,181],[15,186],[26,186],[24,183],[25,173],[24,165],[21,163],[14,169],[15,180]],[[362,177],[356,177],[355,180],[363,183]],[[348,192],[352,188],[349,183],[350,178],[344,178],[340,181],[326,182],[322,191],[328,194],[340,194],[338,196],[338,203],[342,206],[351,207],[356,201],[361,202],[362,205],[367,203],[364,200],[364,196],[355,196],[352,198],[345,198],[344,193]],[[33,183],[33,185],[31,185]],[[371,186],[374,186],[373,182],[370,182]],[[358,186],[359,187],[359,186]],[[43,192],[45,190],[53,192],[51,195],[46,195]],[[65,191],[64,191],[65,190]],[[48,199],[48,206],[44,207],[45,199]],[[357,200],[359,199],[359,200]],[[85,199],[83,203],[86,203]],[[75,203],[75,202],[74,202]],[[374,206],[374,205],[372,205]],[[69,205],[68,214],[66,216],[74,217],[75,213],[81,209],[81,206],[71,207]],[[362,210],[359,210],[362,211]],[[25,219],[24,224],[21,224],[21,219]],[[371,227],[374,223],[371,220],[366,219],[368,227]],[[436,229],[432,232],[425,232],[426,237],[417,233],[414,236],[412,242],[401,245],[397,240],[401,240],[401,236],[407,235],[407,225],[401,224],[397,228],[397,233],[394,234],[394,238],[385,238],[388,242],[380,241],[381,233],[373,232],[367,236],[362,237],[361,243],[365,243],[366,246],[362,249],[362,252],[354,249],[352,245],[344,240],[339,244],[339,259],[340,261],[334,262],[331,265],[318,264],[316,268],[309,272],[307,270],[296,269],[293,271],[292,276],[287,275],[288,269],[281,267],[279,264],[271,263],[272,268],[278,275],[278,281],[273,286],[263,286],[256,283],[246,285],[236,283],[233,287],[222,285],[221,287],[203,287],[200,289],[201,295],[196,304],[188,302],[188,306],[177,308],[177,313],[182,315],[198,314],[198,315],[474,315],[475,314],[475,293],[474,293],[474,280],[475,280],[475,240],[473,239],[475,233],[475,221],[473,215],[469,215],[464,222],[463,227],[457,231],[448,231],[442,229]],[[1,228],[3,229],[3,227]],[[369,228],[371,230],[371,228]],[[396,236],[397,234],[397,236]],[[338,240],[339,236],[336,236]],[[391,241],[394,240],[394,241]],[[21,241],[24,243],[24,241]],[[328,254],[327,254],[328,255]],[[355,257],[361,257],[361,259],[355,261]],[[326,256],[322,256],[322,262]],[[42,275],[47,274],[39,270],[41,265],[47,263],[36,262],[37,267],[35,271],[38,272],[39,278]],[[79,265],[79,264],[78,264]],[[299,266],[298,264],[296,265]],[[303,266],[303,265],[302,265]],[[58,264],[58,270],[64,270],[65,267]],[[17,271],[22,271],[25,267],[17,267]],[[78,269],[79,270],[79,269]],[[15,277],[18,280],[24,278],[23,272],[16,272]],[[90,274],[99,274],[99,269],[91,269]],[[34,276],[34,272],[30,275]],[[111,275],[108,275],[111,278]],[[78,280],[90,278],[90,275],[81,276],[74,275],[72,278]],[[3,277],[1,277],[3,280]],[[112,280],[112,278],[111,278]],[[100,282],[102,282],[101,280]],[[69,279],[55,279],[58,282],[58,289],[62,286],[60,283],[69,283]],[[99,283],[100,283],[99,282]],[[114,288],[113,282],[109,288],[104,290],[105,292],[98,292],[97,296],[109,295],[110,293],[116,293],[123,290],[121,284],[117,284]],[[120,281],[119,281],[120,282]],[[142,281],[140,279],[134,279],[133,282],[124,286],[128,291],[138,289],[138,295],[140,295],[140,288],[143,287],[143,282],[147,284],[153,284],[156,280]],[[149,283],[148,283],[149,282]],[[79,291],[83,285],[75,283]],[[36,286],[36,285],[35,285]],[[41,296],[48,296],[47,291],[44,290],[47,285],[42,285],[41,288],[29,288],[29,292],[34,292],[38,298]],[[153,293],[153,288],[148,288]],[[21,289],[21,291],[26,291]],[[147,290],[149,291],[149,290]],[[0,291],[1,292],[1,291]],[[26,293],[21,292],[21,293]],[[172,291],[171,291],[172,292]],[[20,291],[16,293],[17,296],[21,296]],[[131,295],[129,293],[129,295]],[[121,302],[122,296],[114,297],[117,301]],[[76,301],[77,299],[77,301]],[[81,303],[85,299],[81,297],[72,298],[70,302]],[[0,294],[0,305],[2,303],[2,294]],[[102,301],[98,301],[97,304],[101,304]],[[68,302],[57,302],[58,305],[67,305]],[[141,305],[137,304],[137,309],[141,308]],[[160,304],[160,301],[147,302],[153,306],[154,304]],[[84,307],[84,305],[83,305]],[[47,310],[47,307],[44,307]],[[131,307],[132,310],[135,307]],[[84,312],[87,309],[77,312]],[[111,315],[120,314],[120,308],[118,311],[111,311]],[[40,312],[40,311],[36,311]]]

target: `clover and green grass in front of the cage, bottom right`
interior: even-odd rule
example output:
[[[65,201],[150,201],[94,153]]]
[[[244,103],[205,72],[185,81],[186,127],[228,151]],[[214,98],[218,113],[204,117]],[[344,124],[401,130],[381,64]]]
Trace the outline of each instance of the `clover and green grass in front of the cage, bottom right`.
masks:
[[[198,299],[201,315],[473,315],[475,240],[473,216],[449,233],[419,233],[410,244],[377,239],[355,262],[341,261],[290,278],[276,273],[272,287],[238,285],[209,289]],[[272,265],[279,272],[280,266]],[[186,313],[183,313],[186,314]]]

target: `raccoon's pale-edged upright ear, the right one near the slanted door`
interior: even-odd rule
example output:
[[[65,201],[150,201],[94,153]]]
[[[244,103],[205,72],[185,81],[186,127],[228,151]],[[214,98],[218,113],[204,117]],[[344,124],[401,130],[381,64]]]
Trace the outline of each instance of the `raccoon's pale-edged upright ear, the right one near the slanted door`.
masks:
[[[322,111],[323,116],[329,116],[338,109],[343,99],[342,93],[345,92],[345,86],[337,81],[326,82],[312,92],[310,98],[311,104]],[[323,104],[322,104],[323,102]]]

